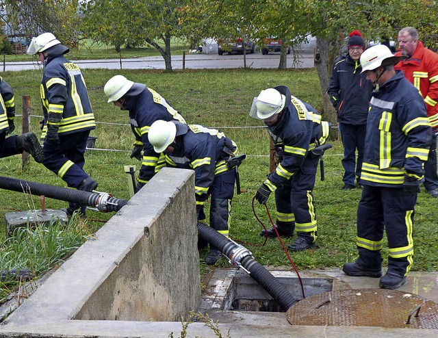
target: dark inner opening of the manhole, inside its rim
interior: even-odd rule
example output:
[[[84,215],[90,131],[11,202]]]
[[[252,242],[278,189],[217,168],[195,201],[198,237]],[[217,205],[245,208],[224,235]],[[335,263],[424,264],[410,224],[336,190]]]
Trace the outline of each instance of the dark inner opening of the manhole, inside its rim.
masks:
[[[294,277],[276,277],[294,298],[302,300],[300,281]],[[306,297],[332,291],[333,278],[302,278]],[[280,304],[248,275],[235,275],[224,298],[224,311],[284,312]]]

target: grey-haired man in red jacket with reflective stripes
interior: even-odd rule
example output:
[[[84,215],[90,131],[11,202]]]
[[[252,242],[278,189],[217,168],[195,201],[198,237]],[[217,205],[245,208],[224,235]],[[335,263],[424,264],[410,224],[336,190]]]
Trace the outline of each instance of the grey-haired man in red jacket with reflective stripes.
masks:
[[[424,187],[431,196],[437,198],[438,54],[424,47],[418,40],[417,29],[413,27],[404,27],[398,32],[398,44],[400,51],[396,56],[407,55],[408,58],[394,68],[403,70],[404,77],[420,90],[432,125],[432,144],[424,163]]]

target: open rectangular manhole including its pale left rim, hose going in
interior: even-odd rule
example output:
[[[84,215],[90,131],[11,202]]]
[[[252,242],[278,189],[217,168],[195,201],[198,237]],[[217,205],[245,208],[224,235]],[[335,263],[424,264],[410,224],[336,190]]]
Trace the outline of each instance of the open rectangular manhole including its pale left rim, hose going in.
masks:
[[[218,270],[216,270],[218,271]],[[218,272],[211,289],[203,295],[204,309],[224,311],[285,312],[259,283],[241,271]],[[300,281],[292,276],[276,276],[295,299],[302,299]],[[333,278],[302,278],[305,297],[331,291]],[[207,298],[207,300],[206,300]],[[207,305],[206,305],[207,304]],[[202,307],[202,306],[201,306]]]

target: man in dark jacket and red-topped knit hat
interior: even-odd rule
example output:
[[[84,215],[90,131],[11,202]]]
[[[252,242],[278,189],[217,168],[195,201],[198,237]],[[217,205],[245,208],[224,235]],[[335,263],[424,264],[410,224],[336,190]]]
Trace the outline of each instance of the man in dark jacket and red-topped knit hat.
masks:
[[[361,184],[361,167],[365,129],[372,83],[361,74],[359,58],[365,50],[365,42],[359,31],[352,31],[348,40],[348,53],[335,60],[329,83],[331,103],[337,111],[337,122],[344,145],[344,190]],[[356,161],[357,150],[357,161]]]

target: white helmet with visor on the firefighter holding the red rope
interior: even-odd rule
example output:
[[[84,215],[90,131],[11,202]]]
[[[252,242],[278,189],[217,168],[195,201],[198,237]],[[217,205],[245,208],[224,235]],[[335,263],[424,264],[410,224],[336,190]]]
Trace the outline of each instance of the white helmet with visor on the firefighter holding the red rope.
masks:
[[[274,114],[279,114],[285,107],[286,96],[274,88],[262,90],[253,100],[250,116],[265,120]]]

